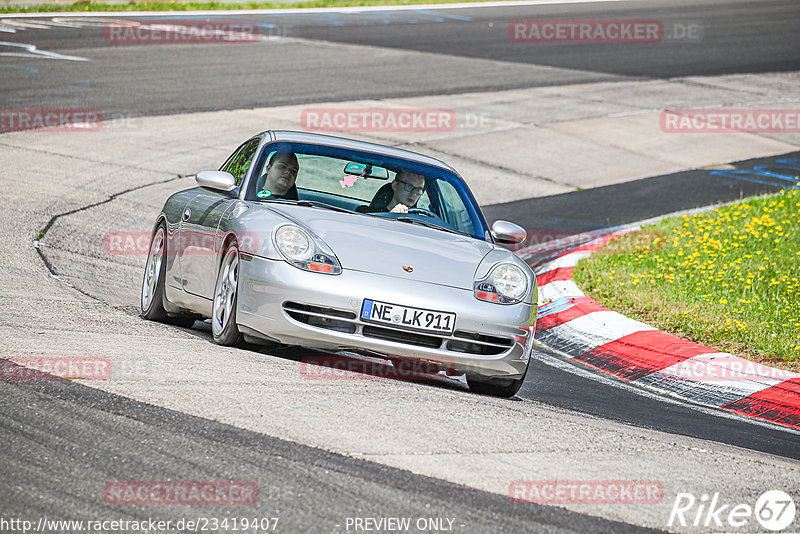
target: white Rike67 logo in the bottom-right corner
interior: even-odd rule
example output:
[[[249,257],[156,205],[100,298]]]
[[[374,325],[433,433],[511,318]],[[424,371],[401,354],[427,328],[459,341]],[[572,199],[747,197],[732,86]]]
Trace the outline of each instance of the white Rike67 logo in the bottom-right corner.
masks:
[[[679,493],[672,505],[667,527],[699,527],[706,531],[752,530],[755,527],[752,520],[755,519],[762,528],[779,532],[794,523],[795,513],[794,500],[780,490],[762,493],[752,507],[744,503],[726,503],[720,499],[719,493],[711,496],[704,493],[699,499],[691,493]]]

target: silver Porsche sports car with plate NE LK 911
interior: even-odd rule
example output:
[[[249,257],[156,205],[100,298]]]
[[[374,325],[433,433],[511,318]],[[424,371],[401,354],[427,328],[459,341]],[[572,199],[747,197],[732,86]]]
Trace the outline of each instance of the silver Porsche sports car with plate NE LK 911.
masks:
[[[142,315],[210,318],[214,341],[424,362],[510,397],[528,369],[536,278],[436,159],[288,131],[242,144],[156,218]]]

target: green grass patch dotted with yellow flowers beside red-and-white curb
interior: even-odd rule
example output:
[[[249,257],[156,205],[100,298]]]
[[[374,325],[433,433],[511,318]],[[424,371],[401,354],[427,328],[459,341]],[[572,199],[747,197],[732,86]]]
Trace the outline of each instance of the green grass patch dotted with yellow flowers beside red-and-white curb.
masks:
[[[800,190],[665,219],[622,236],[581,261],[575,281],[625,315],[798,370]]]

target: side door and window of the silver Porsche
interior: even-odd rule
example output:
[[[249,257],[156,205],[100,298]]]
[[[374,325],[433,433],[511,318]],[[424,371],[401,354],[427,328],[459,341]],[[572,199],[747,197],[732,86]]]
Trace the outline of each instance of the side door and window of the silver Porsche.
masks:
[[[201,189],[184,208],[181,215],[179,257],[184,291],[211,299],[217,278],[217,260],[222,238],[218,235],[219,222],[225,212],[236,202],[239,187],[253,162],[260,139],[244,143],[220,168],[236,180],[230,192]]]

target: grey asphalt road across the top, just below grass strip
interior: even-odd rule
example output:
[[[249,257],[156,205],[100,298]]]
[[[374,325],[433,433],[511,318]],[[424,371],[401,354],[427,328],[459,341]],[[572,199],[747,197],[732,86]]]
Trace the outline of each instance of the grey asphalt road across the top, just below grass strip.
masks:
[[[793,31],[797,6],[786,0],[421,11],[227,17],[262,24],[266,36],[312,39],[317,43],[313,53],[302,43],[284,46],[278,54],[265,54],[259,47],[217,46],[210,58],[204,46],[114,46],[100,31],[102,20],[84,28],[0,33],[7,42],[38,44],[42,49],[57,44],[63,54],[80,56],[80,50],[96,50],[91,62],[58,62],[45,76],[17,68],[14,76],[3,77],[3,104],[69,103],[99,108],[108,115],[153,115],[601,80],[785,72],[796,70],[800,61],[800,36]],[[508,38],[508,23],[513,20],[598,14],[699,25],[703,54],[697,54],[696,43],[684,41],[659,43],[654,53],[646,45],[624,50],[605,44],[519,46]],[[175,18],[186,16],[171,16]],[[398,62],[403,64],[400,72]]]

